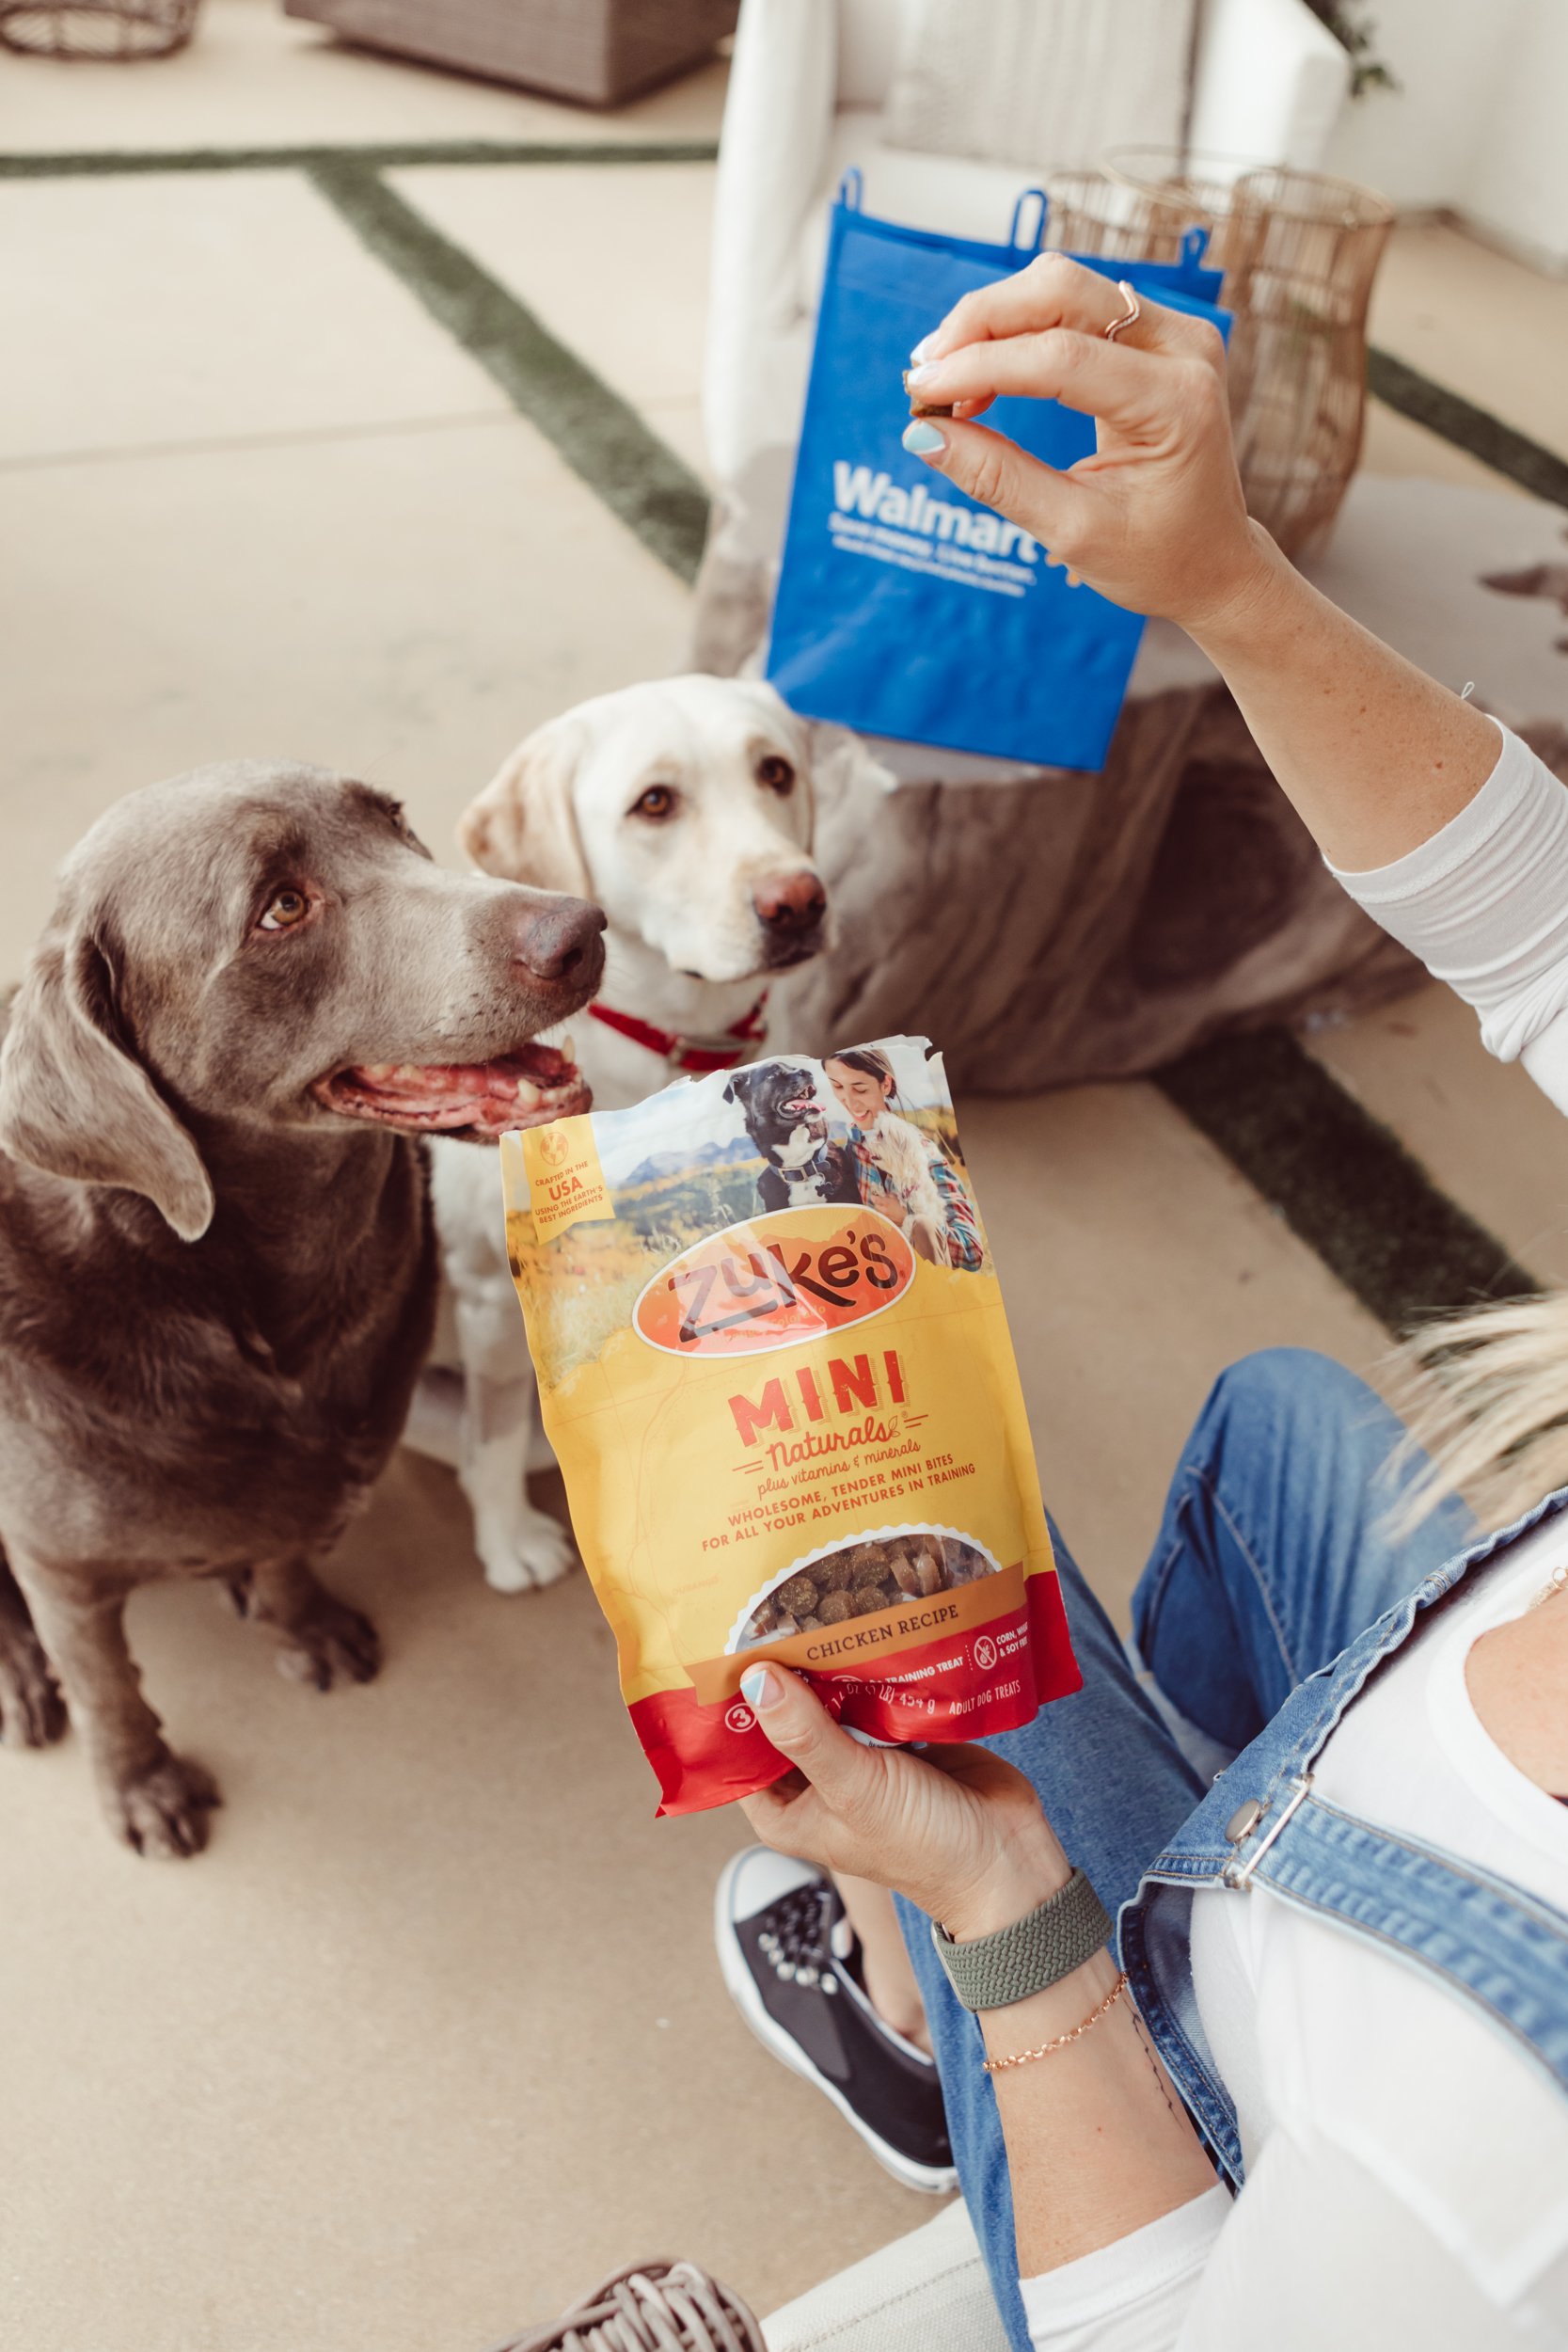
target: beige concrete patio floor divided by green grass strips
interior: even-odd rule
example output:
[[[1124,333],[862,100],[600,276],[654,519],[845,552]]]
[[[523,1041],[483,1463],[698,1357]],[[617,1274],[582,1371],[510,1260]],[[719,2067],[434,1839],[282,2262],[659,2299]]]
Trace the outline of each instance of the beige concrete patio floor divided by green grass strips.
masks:
[[[719,106],[717,64],[599,118],[214,0],[169,66],[0,66],[0,148],[599,148]],[[701,473],[708,162],[388,179]],[[0,978],[136,783],[301,753],[456,863],[531,724],[684,659],[686,588],[299,172],[0,181]],[[1375,341],[1568,456],[1568,285],[1408,228]],[[1509,489],[1389,409],[1368,468]],[[1309,1049],[1568,1277],[1563,1131],[1441,990]],[[1215,1371],[1375,1369],[1387,1334],[1157,1087],[961,1117],[1046,1494],[1124,1611]],[[632,2253],[766,2310],[926,2218],[733,2018],[710,1893],[743,1823],[651,1820],[583,1578],[496,1597],[447,1472],[400,1456],[336,1583],[388,1663],[320,1703],[209,1592],[134,1609],[226,1790],[200,1863],[118,1851],[78,1740],[0,1757],[0,2343],[477,2352]]]

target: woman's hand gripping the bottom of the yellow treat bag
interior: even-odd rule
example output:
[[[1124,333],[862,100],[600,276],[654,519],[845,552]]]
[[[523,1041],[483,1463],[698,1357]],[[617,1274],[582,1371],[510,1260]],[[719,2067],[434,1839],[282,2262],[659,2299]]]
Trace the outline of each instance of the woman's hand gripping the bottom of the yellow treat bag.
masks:
[[[741,1689],[802,1776],[743,1799],[764,1844],[893,1886],[961,1943],[1011,1926],[1067,1884],[1039,1797],[1001,1757],[865,1748],[780,1665],[752,1668]]]

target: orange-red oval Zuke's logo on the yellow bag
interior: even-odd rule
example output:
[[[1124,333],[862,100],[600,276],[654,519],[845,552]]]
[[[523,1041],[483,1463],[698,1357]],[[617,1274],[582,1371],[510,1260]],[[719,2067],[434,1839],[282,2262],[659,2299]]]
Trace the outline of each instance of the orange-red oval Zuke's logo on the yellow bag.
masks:
[[[914,1251],[875,1209],[780,1209],[682,1251],[632,1327],[668,1355],[769,1355],[882,1315],[912,1279]]]

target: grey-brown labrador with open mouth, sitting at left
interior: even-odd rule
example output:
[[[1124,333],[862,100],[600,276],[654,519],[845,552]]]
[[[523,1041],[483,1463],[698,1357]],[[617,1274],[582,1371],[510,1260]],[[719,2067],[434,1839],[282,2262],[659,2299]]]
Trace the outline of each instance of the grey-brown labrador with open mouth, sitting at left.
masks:
[[[376,1670],[310,1562],[430,1338],[416,1138],[585,1108],[529,1040],[592,995],[599,929],[303,767],[132,793],[66,861],[0,1014],[0,1729],[59,1736],[54,1668],[139,1853],[195,1853],[216,1788],[141,1696],[136,1585],[223,1578],[317,1689]]]

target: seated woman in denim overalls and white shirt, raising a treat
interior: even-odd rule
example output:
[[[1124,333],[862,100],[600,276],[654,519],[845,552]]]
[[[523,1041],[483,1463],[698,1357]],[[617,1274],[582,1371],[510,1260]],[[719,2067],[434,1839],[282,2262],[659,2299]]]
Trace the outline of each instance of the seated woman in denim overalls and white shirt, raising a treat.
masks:
[[[914,362],[952,419],[905,447],[1180,621],[1352,896],[1568,1110],[1568,795],[1248,522],[1218,336],[1048,256]],[[1093,414],[1095,456],[999,440],[999,393]],[[1239,1752],[1215,1788],[1065,1548],[1084,1691],[990,1752],[870,1750],[785,1670],[745,1677],[795,1766],[748,1816],[804,1856],[773,1863],[797,1912],[837,1915],[825,1870],[898,1891],[886,1997],[924,2002],[1018,2347],[1568,2340],[1568,1489],[1537,1501],[1568,1477],[1568,1317],[1467,1317],[1418,1355],[1448,1383],[1436,1468],[1319,1357],[1253,1357],[1204,1409],[1133,1621]],[[1535,1508],[1476,1543],[1446,1458],[1523,1465]],[[1070,1860],[1121,1907],[1114,1950]]]

